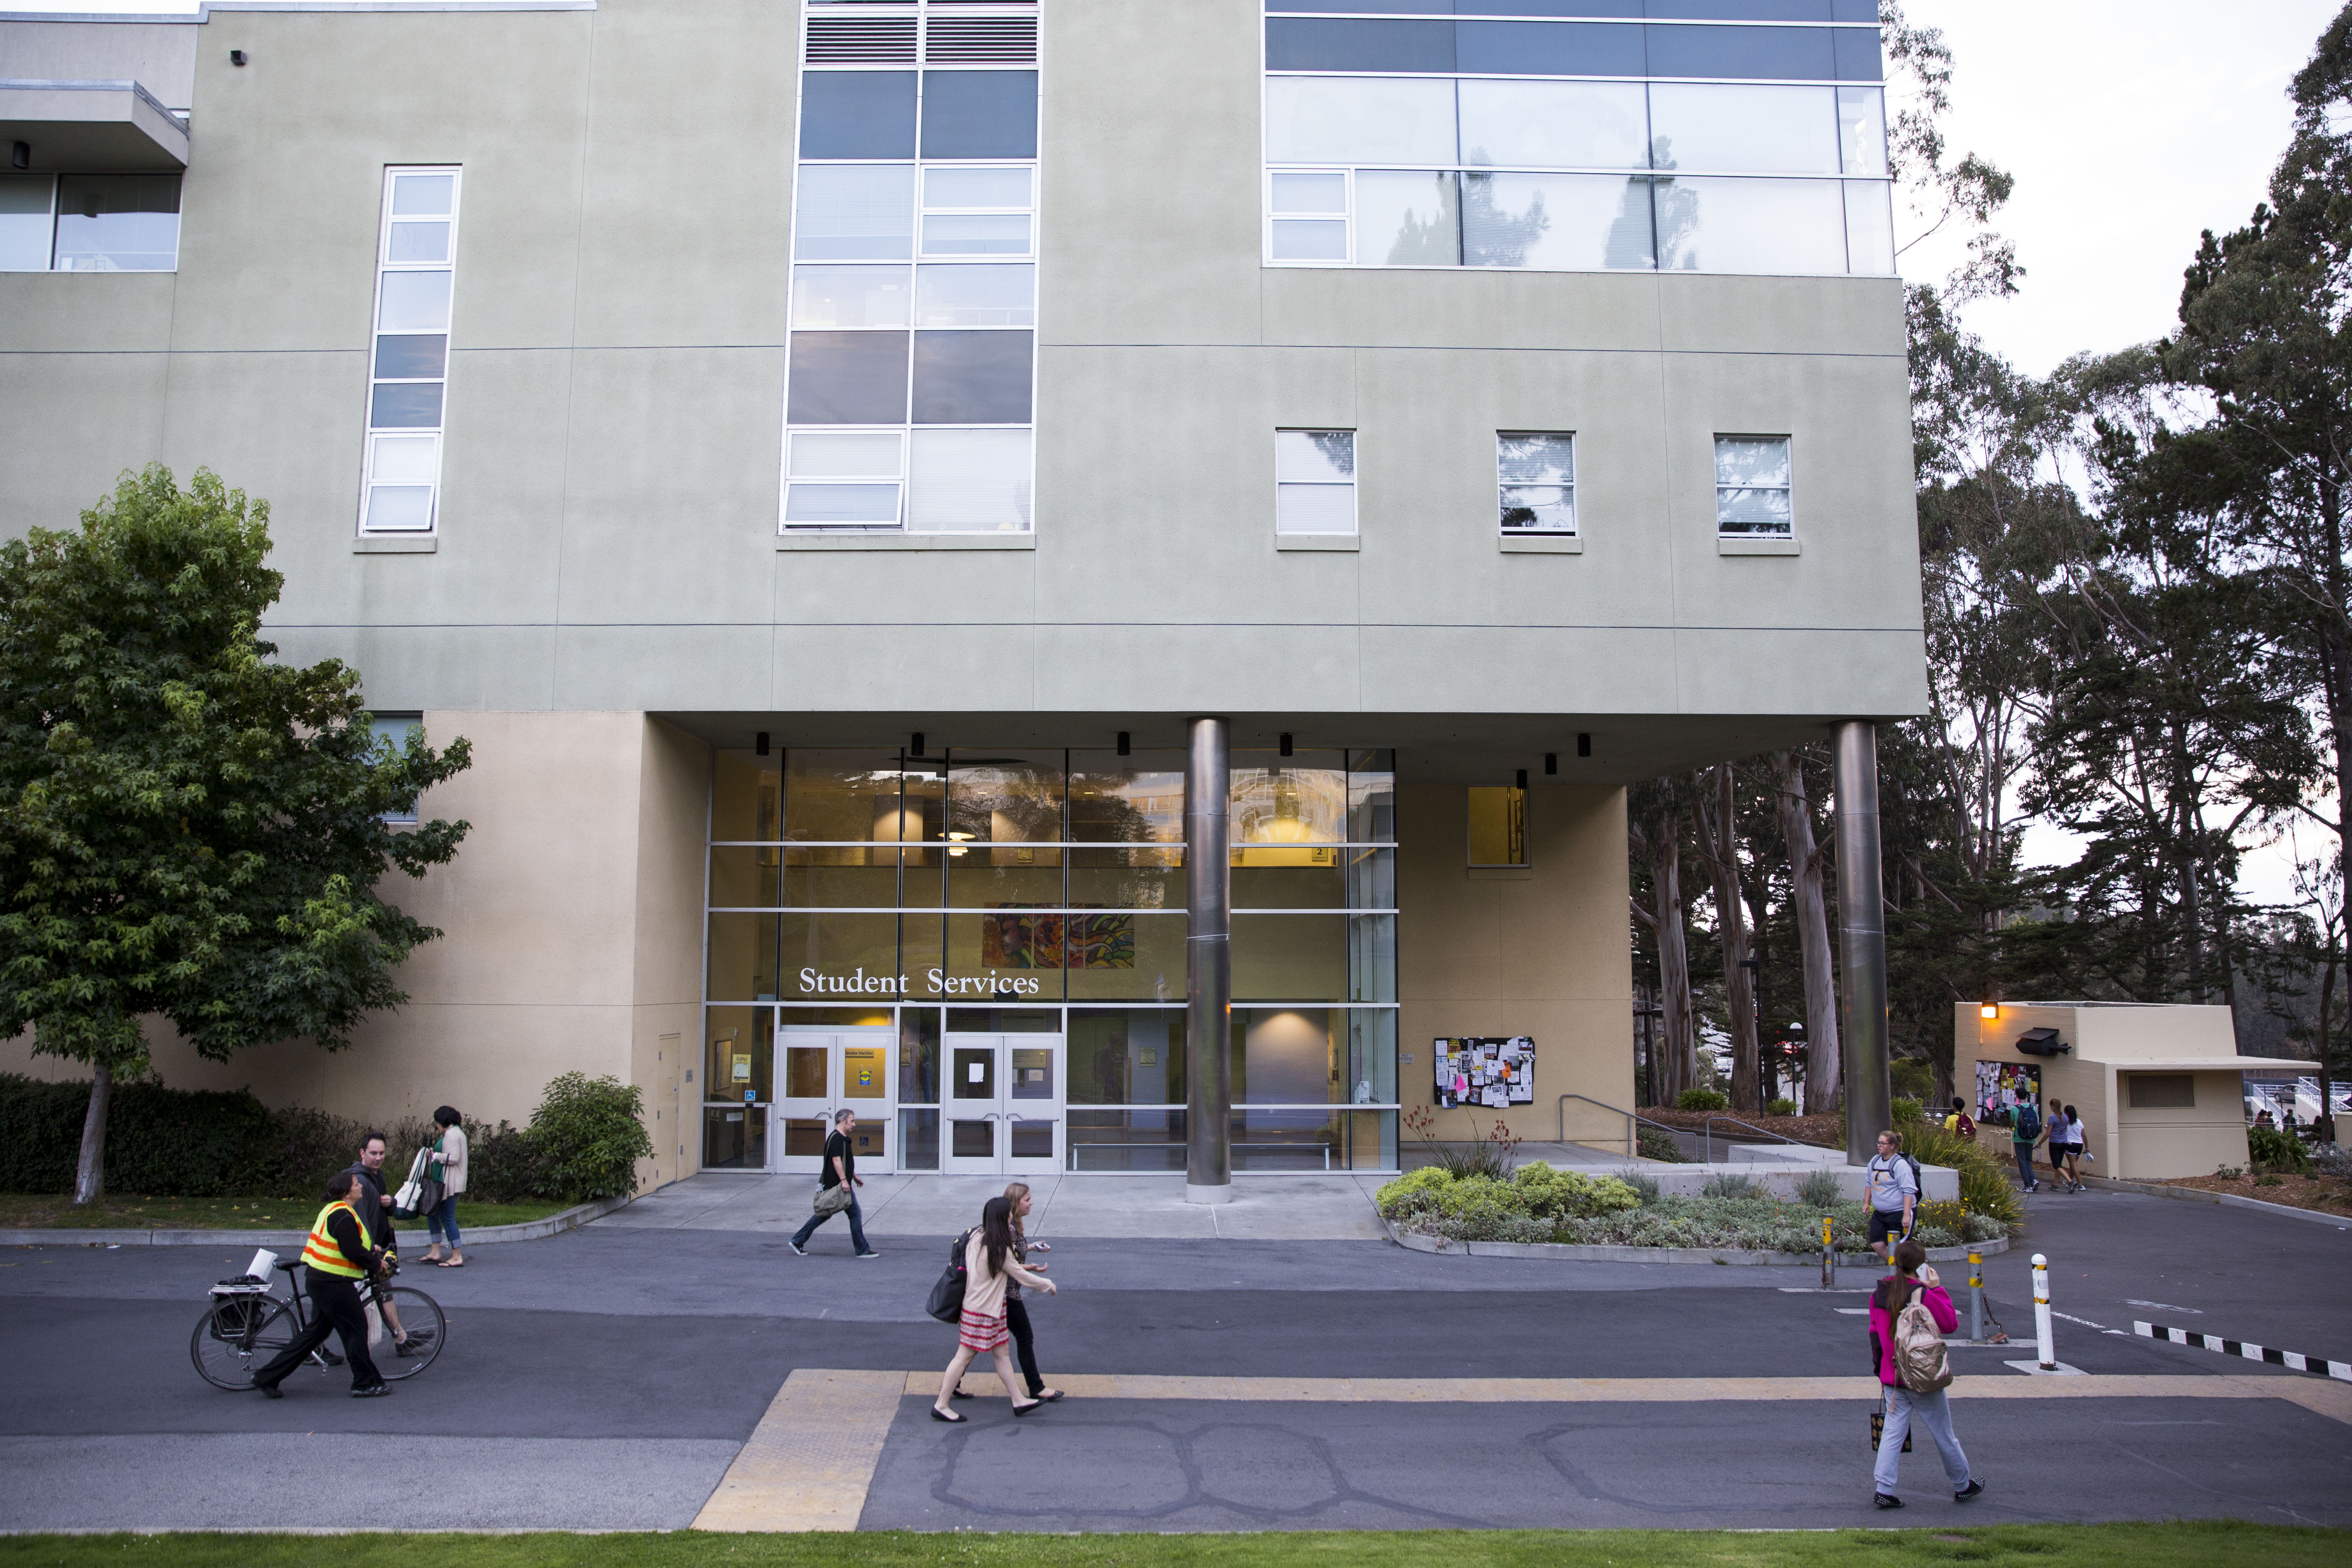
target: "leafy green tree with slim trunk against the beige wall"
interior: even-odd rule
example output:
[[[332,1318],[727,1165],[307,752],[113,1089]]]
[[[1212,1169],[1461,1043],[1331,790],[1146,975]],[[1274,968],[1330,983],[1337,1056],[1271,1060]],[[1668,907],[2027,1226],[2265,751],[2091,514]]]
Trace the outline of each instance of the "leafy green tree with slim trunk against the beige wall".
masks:
[[[85,1063],[75,1201],[103,1185],[106,1105],[162,1016],[207,1060],[350,1044],[440,931],[376,896],[466,823],[386,823],[468,764],[379,743],[360,677],[273,663],[268,505],[209,470],[125,475],[80,531],[0,545],[0,1030]]]

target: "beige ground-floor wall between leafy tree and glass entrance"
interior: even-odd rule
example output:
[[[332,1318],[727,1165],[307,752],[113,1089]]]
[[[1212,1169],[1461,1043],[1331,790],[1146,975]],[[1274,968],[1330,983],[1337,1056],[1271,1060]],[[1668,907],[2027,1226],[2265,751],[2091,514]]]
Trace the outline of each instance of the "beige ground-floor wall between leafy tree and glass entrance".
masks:
[[[708,748],[640,712],[428,712],[426,736],[473,741],[473,766],[421,804],[473,830],[421,882],[376,884],[442,931],[397,976],[409,1001],[362,1023],[346,1051],[296,1039],[228,1063],[151,1020],[158,1077],[358,1121],[454,1105],[520,1126],[546,1081],[576,1067],[644,1088],[647,1185],[694,1171],[699,1138],[675,1135],[694,1131],[694,1107],[675,1105],[677,1048],[663,1037],[691,1051],[701,1032]],[[0,1070],[87,1077],[33,1058],[31,1037],[0,1044]]]

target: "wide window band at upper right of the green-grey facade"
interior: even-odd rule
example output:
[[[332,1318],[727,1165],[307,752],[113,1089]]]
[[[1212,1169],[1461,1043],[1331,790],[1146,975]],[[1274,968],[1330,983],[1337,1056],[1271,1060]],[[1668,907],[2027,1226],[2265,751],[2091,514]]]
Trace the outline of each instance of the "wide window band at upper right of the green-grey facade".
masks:
[[[1896,270],[1863,0],[1755,26],[1696,2],[1651,21],[1265,9],[1268,266]]]

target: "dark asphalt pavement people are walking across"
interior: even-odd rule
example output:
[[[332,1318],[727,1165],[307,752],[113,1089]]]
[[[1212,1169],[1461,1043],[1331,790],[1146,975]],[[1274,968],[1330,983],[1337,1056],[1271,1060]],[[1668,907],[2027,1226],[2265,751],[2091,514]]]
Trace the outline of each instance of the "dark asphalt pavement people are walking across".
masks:
[[[2133,1319],[2352,1359],[2352,1229],[2119,1192],[2039,1194],[2020,1251],[1987,1260],[1997,1316],[2030,1342],[2027,1253],[2051,1258],[2058,1356],[2180,1380],[2296,1373],[2154,1345]],[[350,1401],[306,1371],[285,1401],[223,1394],[188,1361],[230,1248],[0,1253],[0,1528],[315,1523],[675,1528],[691,1523],[795,1368],[941,1366],[922,1316],[946,1237],[856,1262],[840,1225],[809,1258],[781,1237],[593,1225],[482,1246],[402,1284],[449,1345],[395,1396]],[[1228,1378],[1851,1378],[1867,1338],[1811,1267],[1444,1258],[1385,1241],[1065,1239],[1063,1293],[1033,1302],[1056,1373]],[[1964,1269],[1947,1284],[1964,1298]],[[1957,1349],[1964,1375],[2027,1354]],[[2225,1514],[2352,1523],[2352,1425],[2284,1399],[1957,1401],[1990,1483],[1969,1516]],[[2218,1385],[2209,1385],[2218,1387]],[[2023,1389],[2020,1389],[2023,1392]],[[866,1528],[1329,1528],[1411,1523],[1875,1523],[1867,1401],[1613,1406],[1070,1399],[969,1427],[901,1401]],[[103,1486],[92,1483],[103,1474]],[[1915,1509],[1952,1505],[1926,1443]]]

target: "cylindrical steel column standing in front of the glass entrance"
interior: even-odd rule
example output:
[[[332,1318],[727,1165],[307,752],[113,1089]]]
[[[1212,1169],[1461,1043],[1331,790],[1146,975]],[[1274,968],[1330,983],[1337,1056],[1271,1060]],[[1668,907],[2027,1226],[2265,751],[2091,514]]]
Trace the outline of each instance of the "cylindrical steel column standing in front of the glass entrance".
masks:
[[[1232,750],[1225,719],[1192,719],[1183,759],[1185,1161],[1188,1204],[1232,1197],[1232,872],[1225,802]]]

